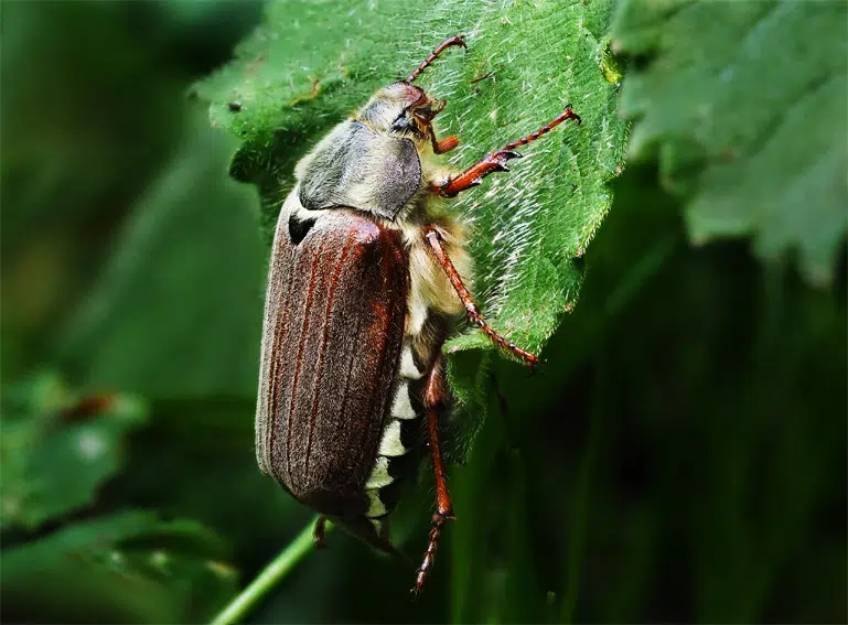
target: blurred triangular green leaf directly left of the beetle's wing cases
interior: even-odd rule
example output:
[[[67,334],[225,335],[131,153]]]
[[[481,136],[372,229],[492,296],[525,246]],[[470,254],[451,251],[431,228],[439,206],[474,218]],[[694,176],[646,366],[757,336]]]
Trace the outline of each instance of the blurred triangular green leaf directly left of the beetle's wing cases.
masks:
[[[186,130],[132,203],[60,337],[60,356],[89,386],[157,398],[245,396],[256,387],[255,363],[233,355],[245,345],[258,351],[257,312],[232,305],[261,302],[256,195],[221,175],[233,149],[227,137]]]

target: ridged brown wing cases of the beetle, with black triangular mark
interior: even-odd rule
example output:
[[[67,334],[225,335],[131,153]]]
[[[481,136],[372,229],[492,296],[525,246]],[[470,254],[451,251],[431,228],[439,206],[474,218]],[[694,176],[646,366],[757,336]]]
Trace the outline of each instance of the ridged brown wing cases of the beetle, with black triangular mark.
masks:
[[[323,514],[365,514],[363,491],[390,420],[404,340],[400,234],[353,211],[312,217],[283,207],[273,245],[260,468]]]

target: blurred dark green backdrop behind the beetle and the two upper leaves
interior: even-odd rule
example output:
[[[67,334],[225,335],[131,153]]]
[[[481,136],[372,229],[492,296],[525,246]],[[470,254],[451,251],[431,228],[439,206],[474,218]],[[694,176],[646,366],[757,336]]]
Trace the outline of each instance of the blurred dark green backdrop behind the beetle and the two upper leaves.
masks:
[[[311,518],[256,468],[260,203],[191,89],[262,8],[1,7],[2,618],[202,622]],[[694,247],[664,173],[615,180],[547,368],[495,364],[421,600],[339,532],[251,622],[848,621],[844,240],[815,288]]]

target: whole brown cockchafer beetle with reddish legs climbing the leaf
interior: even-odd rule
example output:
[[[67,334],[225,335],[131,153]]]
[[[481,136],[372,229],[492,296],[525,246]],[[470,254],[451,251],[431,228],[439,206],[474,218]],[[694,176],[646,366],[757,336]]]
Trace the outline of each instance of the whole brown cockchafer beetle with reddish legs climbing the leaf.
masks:
[[[538,362],[481,316],[465,287],[464,228],[434,211],[433,198],[507,171],[520,157],[516,148],[567,119],[580,122],[569,105],[462,173],[438,164],[434,155],[459,141],[438,139],[433,119],[446,101],[412,83],[450,46],[465,42],[442,42],[298,163],[275,233],[256,413],[261,471],[388,552],[400,478],[415,473],[429,442],[436,513],[416,593],[453,518],[439,448],[439,422],[451,406],[441,348],[453,319],[464,310],[498,347],[530,367]]]

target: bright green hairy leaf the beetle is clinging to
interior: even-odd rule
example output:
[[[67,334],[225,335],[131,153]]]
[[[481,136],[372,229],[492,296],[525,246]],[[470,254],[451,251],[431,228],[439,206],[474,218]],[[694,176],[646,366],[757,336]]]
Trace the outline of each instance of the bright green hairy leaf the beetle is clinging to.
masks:
[[[483,314],[538,352],[575,305],[582,280],[576,259],[609,209],[607,182],[622,163],[627,128],[605,36],[612,2],[442,0],[416,9],[411,14],[402,0],[273,2],[236,61],[195,89],[211,101],[212,123],[244,141],[230,171],[259,185],[268,240],[294,163],[450,35],[464,34],[468,53],[444,53],[420,84],[448,101],[437,125],[460,139],[446,158],[457,171],[573,105],[581,126],[567,122],[523,148],[526,158],[511,163],[512,173],[490,176],[450,205],[471,226],[473,293]],[[494,346],[472,330],[446,349],[473,349],[463,368],[477,371],[486,368],[481,351]],[[476,373],[452,365],[449,375],[474,412],[455,423],[464,457],[489,389]]]

